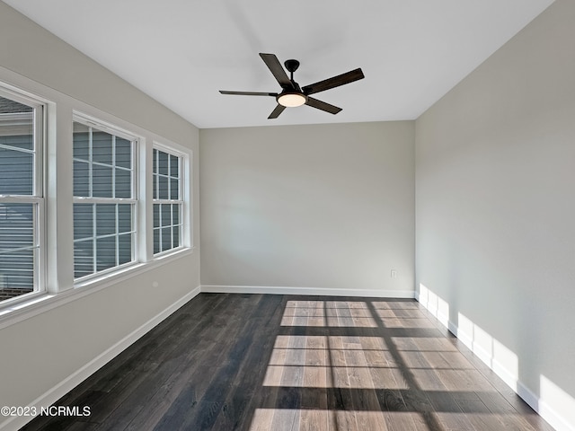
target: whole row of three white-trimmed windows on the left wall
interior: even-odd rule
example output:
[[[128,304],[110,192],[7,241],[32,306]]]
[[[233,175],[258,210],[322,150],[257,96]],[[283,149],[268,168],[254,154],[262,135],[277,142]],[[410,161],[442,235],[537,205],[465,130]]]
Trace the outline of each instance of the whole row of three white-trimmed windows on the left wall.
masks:
[[[34,88],[0,82],[0,326],[192,252],[190,148]]]

